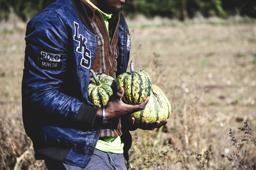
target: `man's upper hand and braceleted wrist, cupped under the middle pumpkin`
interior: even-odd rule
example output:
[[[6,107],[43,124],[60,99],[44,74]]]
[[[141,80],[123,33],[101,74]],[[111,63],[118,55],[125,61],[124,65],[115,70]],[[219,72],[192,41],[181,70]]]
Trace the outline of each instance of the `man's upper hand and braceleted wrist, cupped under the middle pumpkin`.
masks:
[[[122,116],[125,114],[133,114],[134,112],[143,110],[146,107],[146,104],[148,103],[148,100],[149,100],[149,96],[148,96],[143,103],[138,105],[130,105],[130,104],[125,104],[122,101],[123,95],[124,95],[124,88],[121,87],[120,90],[118,90],[116,97],[107,104],[105,108],[105,115],[108,120],[117,118],[118,116]],[[97,117],[98,118],[102,117],[101,109],[98,110]]]

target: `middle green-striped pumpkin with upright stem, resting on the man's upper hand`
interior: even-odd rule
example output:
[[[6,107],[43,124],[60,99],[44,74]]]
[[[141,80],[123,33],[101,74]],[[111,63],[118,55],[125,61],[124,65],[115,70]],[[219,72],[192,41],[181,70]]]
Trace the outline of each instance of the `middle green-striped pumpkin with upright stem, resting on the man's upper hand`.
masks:
[[[145,71],[134,71],[133,61],[130,64],[131,72],[126,72],[117,77],[117,90],[124,88],[123,102],[136,105],[144,102],[151,93],[151,78]]]

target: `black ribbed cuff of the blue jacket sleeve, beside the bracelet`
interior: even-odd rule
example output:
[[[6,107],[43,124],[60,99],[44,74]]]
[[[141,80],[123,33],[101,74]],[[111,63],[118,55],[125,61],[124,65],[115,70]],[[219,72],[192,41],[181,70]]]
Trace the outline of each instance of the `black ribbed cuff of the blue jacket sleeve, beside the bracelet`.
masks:
[[[87,122],[93,126],[98,107],[87,106],[86,104],[82,104],[78,110],[78,114],[76,116],[75,121],[77,122]]]

